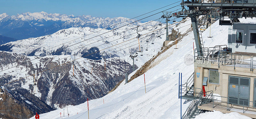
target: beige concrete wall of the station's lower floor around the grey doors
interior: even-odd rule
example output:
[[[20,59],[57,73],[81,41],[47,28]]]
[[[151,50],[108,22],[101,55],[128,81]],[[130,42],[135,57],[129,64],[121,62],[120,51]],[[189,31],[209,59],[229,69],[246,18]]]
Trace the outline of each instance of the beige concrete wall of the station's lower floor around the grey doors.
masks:
[[[249,77],[251,79],[250,81],[250,101],[253,101],[253,81],[254,78],[256,78],[256,70],[250,71],[250,68],[246,67],[236,67],[234,70],[234,67],[232,66],[225,66],[220,65],[220,68],[218,67],[218,62],[195,62],[195,77],[194,77],[194,86],[195,88],[202,89],[203,85],[203,78],[209,76],[209,69],[215,69],[218,70],[220,73],[219,78],[219,84],[211,84],[209,83],[209,78],[207,81],[207,86],[205,86],[205,91],[213,91],[214,94],[220,94],[223,97],[228,97],[228,76],[239,76],[239,77]],[[196,77],[196,73],[200,73],[199,77]],[[216,87],[216,89],[215,89]],[[203,90],[203,89],[202,89]],[[222,101],[227,102],[227,98],[221,98]],[[223,105],[227,105],[226,103],[222,103]],[[253,107],[253,103],[250,102],[250,107]]]

